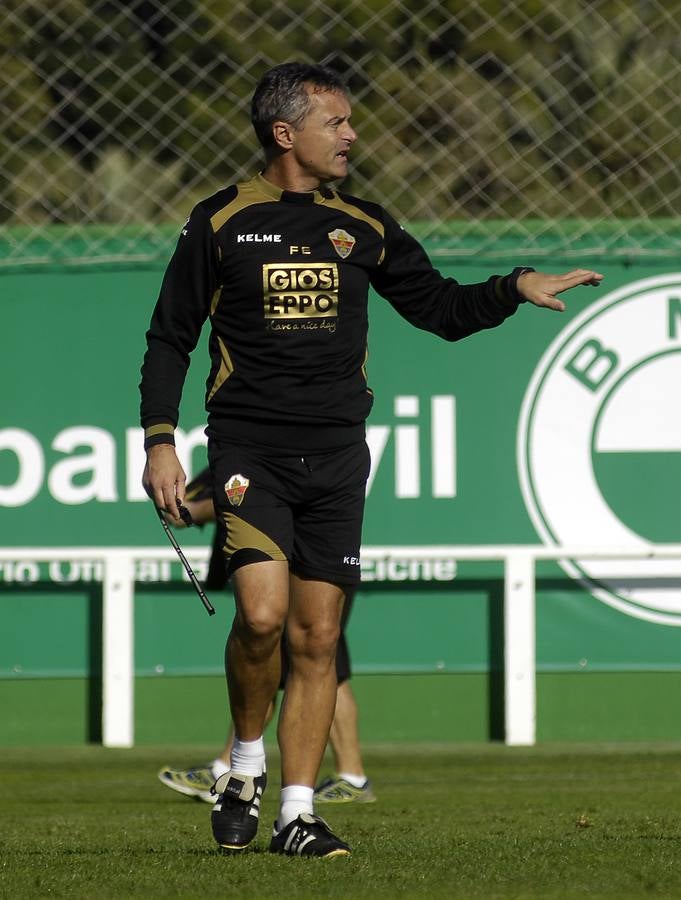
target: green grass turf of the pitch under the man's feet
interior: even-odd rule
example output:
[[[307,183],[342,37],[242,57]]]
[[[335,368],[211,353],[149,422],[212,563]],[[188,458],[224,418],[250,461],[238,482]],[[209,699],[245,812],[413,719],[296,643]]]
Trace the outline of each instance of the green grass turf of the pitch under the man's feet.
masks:
[[[681,897],[681,745],[370,746],[378,802],[319,807],[350,858],[218,853],[210,806],[156,780],[214,748],[3,750],[0,896]],[[328,765],[323,771],[328,770]]]

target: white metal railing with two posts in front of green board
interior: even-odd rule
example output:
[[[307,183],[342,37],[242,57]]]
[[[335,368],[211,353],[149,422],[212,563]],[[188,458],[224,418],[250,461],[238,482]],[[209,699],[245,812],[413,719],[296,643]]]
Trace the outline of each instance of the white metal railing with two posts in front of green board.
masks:
[[[207,548],[186,548],[190,563],[205,562]],[[102,743],[134,743],[134,590],[138,560],[176,560],[171,547],[13,547],[3,561],[101,563],[103,590]],[[535,564],[538,560],[681,559],[681,544],[644,549],[543,547],[523,544],[363,547],[367,561],[449,559],[504,563],[505,741],[527,746],[536,739]],[[455,584],[455,582],[452,582]]]

